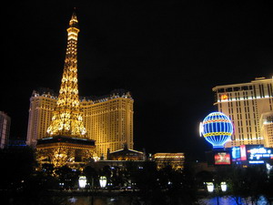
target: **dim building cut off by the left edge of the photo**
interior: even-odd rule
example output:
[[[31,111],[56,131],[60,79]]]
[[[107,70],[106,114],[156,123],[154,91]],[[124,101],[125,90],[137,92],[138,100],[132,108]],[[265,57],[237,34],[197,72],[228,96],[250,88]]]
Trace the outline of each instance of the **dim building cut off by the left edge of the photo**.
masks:
[[[11,118],[0,111],[0,149],[8,145]]]

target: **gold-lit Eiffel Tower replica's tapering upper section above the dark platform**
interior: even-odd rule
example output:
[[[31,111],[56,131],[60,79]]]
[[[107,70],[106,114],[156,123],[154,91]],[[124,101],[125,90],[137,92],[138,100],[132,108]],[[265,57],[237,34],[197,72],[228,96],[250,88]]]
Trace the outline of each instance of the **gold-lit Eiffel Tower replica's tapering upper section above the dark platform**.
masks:
[[[50,136],[85,137],[83,113],[77,87],[77,36],[78,21],[74,12],[67,28],[67,47],[64,72],[56,108],[47,133]]]

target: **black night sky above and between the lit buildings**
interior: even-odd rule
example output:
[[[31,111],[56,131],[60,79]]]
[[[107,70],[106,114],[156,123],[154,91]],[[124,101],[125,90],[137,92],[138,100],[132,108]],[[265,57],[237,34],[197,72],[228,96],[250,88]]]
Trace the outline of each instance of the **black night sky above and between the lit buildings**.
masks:
[[[212,88],[273,75],[273,12],[262,1],[60,2],[2,8],[0,110],[11,138],[26,138],[32,91],[60,87],[74,7],[79,94],[131,91],[137,150],[202,158],[211,146],[198,125],[216,110]]]

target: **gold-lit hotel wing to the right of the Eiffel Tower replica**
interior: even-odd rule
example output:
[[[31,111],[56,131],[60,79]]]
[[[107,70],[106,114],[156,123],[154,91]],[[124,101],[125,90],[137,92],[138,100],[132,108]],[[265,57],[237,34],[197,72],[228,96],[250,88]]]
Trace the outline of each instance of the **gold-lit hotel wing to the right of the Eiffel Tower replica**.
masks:
[[[107,149],[133,149],[133,103],[125,90],[114,90],[106,97],[83,99],[84,123],[88,138],[96,140],[96,153],[106,158]]]

